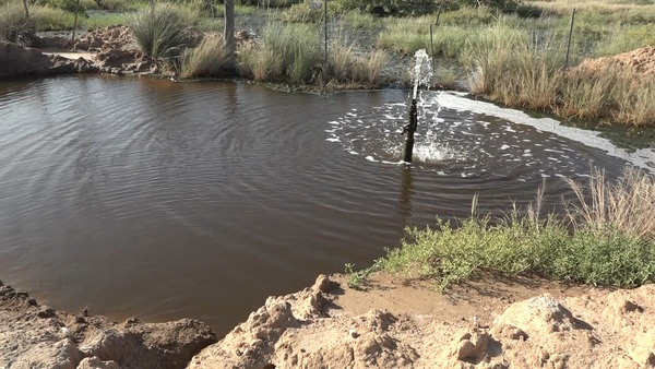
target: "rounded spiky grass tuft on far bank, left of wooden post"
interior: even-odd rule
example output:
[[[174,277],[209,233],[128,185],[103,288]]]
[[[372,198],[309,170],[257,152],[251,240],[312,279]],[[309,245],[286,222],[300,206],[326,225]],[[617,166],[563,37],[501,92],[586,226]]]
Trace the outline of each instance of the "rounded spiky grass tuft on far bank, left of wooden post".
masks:
[[[160,3],[136,12],[130,28],[139,49],[159,59],[179,53],[179,47],[187,41],[184,29],[193,25],[194,19],[195,14],[186,8]]]

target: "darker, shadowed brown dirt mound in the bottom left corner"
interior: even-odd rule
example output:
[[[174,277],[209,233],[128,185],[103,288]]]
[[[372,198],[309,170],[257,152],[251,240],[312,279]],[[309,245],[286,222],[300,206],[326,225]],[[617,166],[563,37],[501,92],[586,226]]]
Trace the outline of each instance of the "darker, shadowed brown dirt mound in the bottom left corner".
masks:
[[[0,282],[0,368],[184,368],[214,342],[195,320],[118,324],[86,311],[72,316]]]

